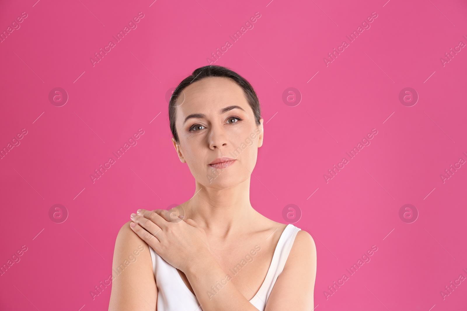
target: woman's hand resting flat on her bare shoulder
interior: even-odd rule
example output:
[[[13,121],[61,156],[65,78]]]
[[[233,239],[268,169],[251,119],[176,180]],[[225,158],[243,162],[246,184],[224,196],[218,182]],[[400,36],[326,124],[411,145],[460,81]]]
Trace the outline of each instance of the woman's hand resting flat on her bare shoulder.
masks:
[[[183,220],[183,216],[165,209],[139,209],[130,218],[134,221],[130,228],[167,263],[184,273],[205,256],[212,256],[204,229],[191,219]]]

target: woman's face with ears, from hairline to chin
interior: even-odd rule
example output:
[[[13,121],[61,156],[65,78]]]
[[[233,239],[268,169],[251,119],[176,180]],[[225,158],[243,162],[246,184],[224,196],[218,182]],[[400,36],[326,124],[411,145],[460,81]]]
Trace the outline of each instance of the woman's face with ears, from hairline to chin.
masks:
[[[222,77],[194,82],[177,100],[178,156],[203,186],[225,189],[247,180],[263,140],[263,119],[255,123],[243,90]],[[210,165],[221,157],[230,165]]]

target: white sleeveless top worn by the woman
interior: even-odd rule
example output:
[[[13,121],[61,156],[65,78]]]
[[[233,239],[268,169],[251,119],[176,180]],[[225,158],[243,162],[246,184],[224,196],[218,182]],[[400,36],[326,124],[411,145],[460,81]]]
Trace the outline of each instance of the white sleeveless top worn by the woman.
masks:
[[[266,308],[269,294],[285,266],[299,230],[301,229],[288,224],[279,238],[266,278],[255,297],[250,300],[256,309],[264,311]],[[150,246],[149,252],[157,285],[157,311],[201,311],[196,296],[185,285],[177,269]]]

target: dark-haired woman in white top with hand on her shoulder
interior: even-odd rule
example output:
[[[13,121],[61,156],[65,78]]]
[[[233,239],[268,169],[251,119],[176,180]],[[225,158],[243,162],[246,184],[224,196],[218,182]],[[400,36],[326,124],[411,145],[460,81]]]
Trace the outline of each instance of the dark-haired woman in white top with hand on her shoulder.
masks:
[[[120,229],[109,311],[313,310],[311,235],[250,204],[263,143],[250,83],[225,67],[198,68],[174,90],[169,118],[195,193],[176,211],[138,210]]]

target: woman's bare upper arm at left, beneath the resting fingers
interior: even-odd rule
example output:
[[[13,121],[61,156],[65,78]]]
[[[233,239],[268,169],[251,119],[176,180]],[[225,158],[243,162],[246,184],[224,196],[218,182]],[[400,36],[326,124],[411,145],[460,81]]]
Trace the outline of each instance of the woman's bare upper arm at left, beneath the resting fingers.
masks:
[[[121,227],[115,241],[109,311],[157,310],[157,287],[149,247],[133,232],[130,222]]]

